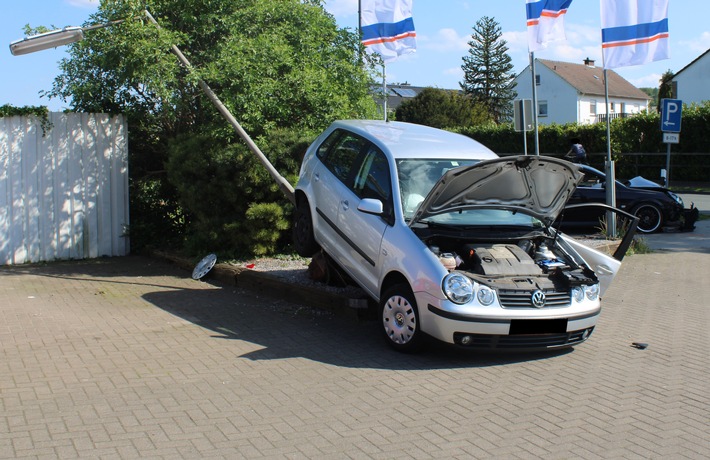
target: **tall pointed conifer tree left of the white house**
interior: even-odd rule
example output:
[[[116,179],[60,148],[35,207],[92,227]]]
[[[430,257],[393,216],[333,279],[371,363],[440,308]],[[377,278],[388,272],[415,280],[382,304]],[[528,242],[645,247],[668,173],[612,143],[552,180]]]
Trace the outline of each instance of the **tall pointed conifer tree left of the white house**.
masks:
[[[461,66],[464,71],[461,89],[483,104],[496,123],[512,117],[512,102],[517,96],[513,64],[502,35],[495,19],[482,17],[473,26],[468,56],[464,56]]]

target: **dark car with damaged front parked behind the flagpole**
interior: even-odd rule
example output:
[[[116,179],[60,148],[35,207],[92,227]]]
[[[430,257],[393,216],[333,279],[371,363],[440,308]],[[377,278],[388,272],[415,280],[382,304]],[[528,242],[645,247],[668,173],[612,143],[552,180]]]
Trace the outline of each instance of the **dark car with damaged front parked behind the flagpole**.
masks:
[[[567,203],[606,203],[606,175],[590,166],[578,165],[584,178]],[[686,210],[683,199],[642,177],[616,181],[616,206],[639,217],[638,230],[653,233],[664,228],[692,230],[697,216]],[[562,217],[563,227],[599,227],[604,219],[603,209],[567,209]]]

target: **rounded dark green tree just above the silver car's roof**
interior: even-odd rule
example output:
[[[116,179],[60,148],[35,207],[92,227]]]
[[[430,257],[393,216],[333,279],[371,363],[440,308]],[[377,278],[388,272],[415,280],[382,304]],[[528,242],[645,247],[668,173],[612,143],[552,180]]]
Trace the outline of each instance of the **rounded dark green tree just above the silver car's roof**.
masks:
[[[490,121],[485,107],[455,91],[424,88],[414,98],[402,102],[395,118],[434,128],[473,126]]]

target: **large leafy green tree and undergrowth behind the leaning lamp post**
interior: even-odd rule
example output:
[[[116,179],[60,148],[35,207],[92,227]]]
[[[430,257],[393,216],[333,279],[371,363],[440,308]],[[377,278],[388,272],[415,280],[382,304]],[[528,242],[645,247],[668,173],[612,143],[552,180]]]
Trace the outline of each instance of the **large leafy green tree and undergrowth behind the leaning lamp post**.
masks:
[[[273,242],[285,233],[290,203],[196,83],[207,82],[261,140],[281,174],[295,180],[302,152],[282,143],[276,152],[263,147],[277,128],[299,133],[280,138],[302,145],[303,136],[312,138],[334,119],[375,114],[359,38],[339,28],[321,3],[101,2],[89,24],[124,21],[86,32],[86,40],[71,45],[47,94],[70,99],[74,110],[126,115],[131,209],[145,211],[131,216],[132,244],[145,221],[176,214],[179,206],[179,230],[195,238],[195,251],[200,245],[222,255],[277,249]],[[146,20],[146,7],[160,29]],[[187,56],[191,71],[179,65],[171,45]],[[150,203],[136,205],[145,190]],[[265,222],[269,235],[260,227]]]

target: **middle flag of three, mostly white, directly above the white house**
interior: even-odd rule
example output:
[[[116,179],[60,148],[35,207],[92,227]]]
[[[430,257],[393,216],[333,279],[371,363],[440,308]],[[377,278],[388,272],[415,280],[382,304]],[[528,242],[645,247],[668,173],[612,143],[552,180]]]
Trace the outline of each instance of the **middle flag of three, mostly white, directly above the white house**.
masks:
[[[526,0],[528,49],[541,50],[549,42],[566,40],[565,15],[572,0]]]

